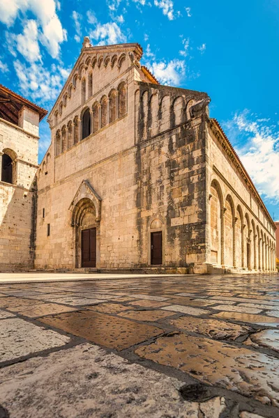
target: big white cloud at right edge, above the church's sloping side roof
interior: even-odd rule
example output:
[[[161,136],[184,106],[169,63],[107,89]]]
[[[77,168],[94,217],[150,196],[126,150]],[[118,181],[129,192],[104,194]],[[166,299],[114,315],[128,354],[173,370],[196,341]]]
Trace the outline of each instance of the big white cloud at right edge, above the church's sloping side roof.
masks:
[[[249,111],[236,114],[227,123],[234,141],[241,137],[245,144],[239,144],[236,151],[255,183],[259,194],[271,203],[279,203],[279,131],[269,119],[252,117]]]

